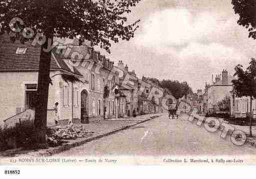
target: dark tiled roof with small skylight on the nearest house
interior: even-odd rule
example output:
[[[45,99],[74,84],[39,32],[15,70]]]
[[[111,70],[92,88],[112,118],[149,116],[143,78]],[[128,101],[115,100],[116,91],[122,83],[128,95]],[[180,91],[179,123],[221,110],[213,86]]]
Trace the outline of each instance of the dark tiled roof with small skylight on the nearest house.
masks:
[[[39,68],[40,46],[27,41],[21,44],[19,40],[12,43],[8,35],[0,36],[0,71],[37,71]],[[27,48],[24,54],[16,54],[17,48]],[[73,70],[64,62],[64,57],[52,50],[51,70],[64,70],[82,76],[75,68]]]

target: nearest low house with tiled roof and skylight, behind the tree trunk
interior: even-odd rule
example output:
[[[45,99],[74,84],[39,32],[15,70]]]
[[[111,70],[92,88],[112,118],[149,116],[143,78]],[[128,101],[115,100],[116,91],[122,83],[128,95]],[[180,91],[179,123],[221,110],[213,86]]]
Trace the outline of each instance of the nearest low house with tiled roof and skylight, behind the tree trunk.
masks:
[[[0,36],[0,123],[11,120],[26,109],[34,113],[37,90],[40,46],[29,41],[12,43],[7,35]],[[68,123],[80,119],[80,90],[87,85],[83,75],[67,59],[52,51],[47,125],[55,122],[54,106],[59,103],[60,119]],[[33,116],[34,114],[30,114]],[[14,117],[13,117],[14,116]]]

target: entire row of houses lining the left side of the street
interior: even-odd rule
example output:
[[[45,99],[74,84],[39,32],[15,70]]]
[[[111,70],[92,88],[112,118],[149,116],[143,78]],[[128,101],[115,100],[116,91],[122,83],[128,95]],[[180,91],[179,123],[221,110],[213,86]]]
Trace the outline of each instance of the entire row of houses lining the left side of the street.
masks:
[[[13,42],[6,34],[0,36],[1,125],[20,118],[33,119],[40,50],[29,41]],[[86,59],[73,58],[74,53]],[[164,90],[158,80],[139,79],[122,60],[115,66],[99,51],[79,45],[77,40],[52,50],[49,80],[49,126],[55,123],[56,103],[63,124],[163,112]]]

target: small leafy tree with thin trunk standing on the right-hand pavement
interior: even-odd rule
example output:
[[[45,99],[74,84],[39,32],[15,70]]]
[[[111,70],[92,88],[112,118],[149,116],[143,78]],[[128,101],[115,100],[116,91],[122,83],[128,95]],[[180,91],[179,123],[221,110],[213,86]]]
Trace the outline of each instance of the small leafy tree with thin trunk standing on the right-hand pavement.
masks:
[[[250,97],[250,136],[252,137],[252,100],[256,98],[256,60],[252,58],[250,66],[244,71],[242,65],[235,67],[234,77],[237,79],[232,80],[233,91],[237,97],[249,96]]]

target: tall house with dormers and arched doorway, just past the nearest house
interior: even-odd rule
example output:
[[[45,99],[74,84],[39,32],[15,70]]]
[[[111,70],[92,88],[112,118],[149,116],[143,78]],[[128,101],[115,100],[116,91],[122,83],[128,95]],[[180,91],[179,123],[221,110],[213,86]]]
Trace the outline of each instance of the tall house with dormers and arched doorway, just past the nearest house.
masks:
[[[74,45],[74,44],[73,44]],[[113,68],[114,62],[106,59],[99,51],[93,50],[92,47],[84,45],[78,46],[75,44],[76,51],[79,54],[86,56],[88,59],[83,59],[76,69],[83,75],[84,79],[88,81],[88,85],[81,90],[81,116],[87,117],[89,122],[96,122],[116,116],[116,104],[112,88],[116,83],[117,74],[113,74],[110,80],[108,76]],[[109,88],[109,95],[104,98],[104,87]]]

